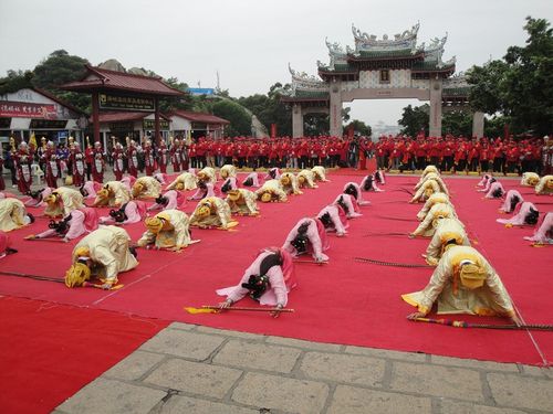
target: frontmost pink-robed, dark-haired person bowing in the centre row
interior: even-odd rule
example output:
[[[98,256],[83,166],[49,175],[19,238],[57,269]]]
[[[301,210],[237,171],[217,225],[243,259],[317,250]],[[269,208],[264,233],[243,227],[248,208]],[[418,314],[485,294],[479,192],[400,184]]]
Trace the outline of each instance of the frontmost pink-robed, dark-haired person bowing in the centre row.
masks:
[[[295,287],[293,262],[289,252],[279,247],[263,248],[248,267],[237,286],[218,289],[219,296],[227,300],[219,304],[220,309],[227,309],[232,304],[250,296],[261,305],[282,309],[288,304],[288,294]],[[279,316],[276,310],[273,317]]]

